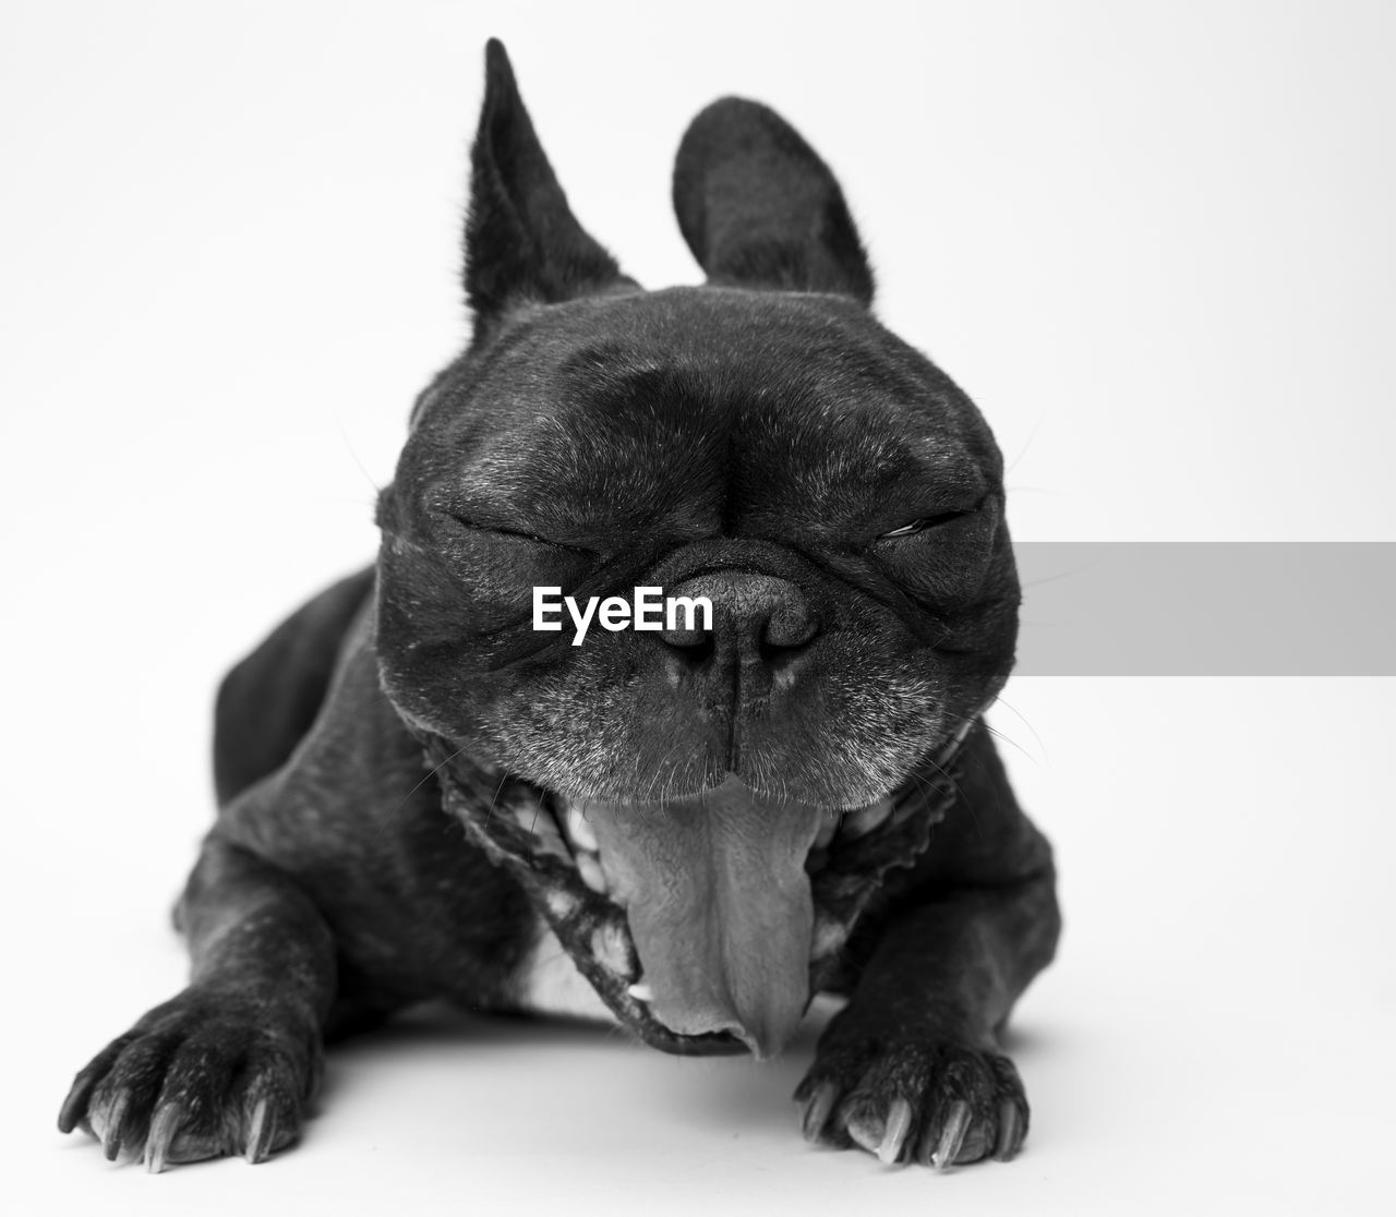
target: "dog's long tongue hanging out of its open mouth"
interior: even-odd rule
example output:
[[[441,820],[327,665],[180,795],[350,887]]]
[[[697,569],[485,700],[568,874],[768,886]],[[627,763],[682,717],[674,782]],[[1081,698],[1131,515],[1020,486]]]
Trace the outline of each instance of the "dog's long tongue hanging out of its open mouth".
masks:
[[[699,798],[586,807],[670,1030],[730,1031],[758,1058],[785,1047],[810,998],[804,861],[826,814],[734,777]]]

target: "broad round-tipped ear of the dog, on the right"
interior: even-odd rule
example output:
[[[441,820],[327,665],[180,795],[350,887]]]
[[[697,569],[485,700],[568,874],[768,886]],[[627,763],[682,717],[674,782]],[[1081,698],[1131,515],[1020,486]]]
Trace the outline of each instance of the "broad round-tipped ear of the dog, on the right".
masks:
[[[674,165],[674,211],[711,283],[872,303],[872,271],[829,166],[775,110],[705,109]]]

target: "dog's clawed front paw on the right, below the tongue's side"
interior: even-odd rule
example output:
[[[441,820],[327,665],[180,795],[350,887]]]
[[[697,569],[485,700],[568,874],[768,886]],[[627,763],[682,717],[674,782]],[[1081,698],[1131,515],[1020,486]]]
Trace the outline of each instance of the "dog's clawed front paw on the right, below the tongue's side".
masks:
[[[1012,1158],[1027,1133],[1013,1062],[987,1048],[877,1038],[821,1045],[794,1093],[804,1135],[944,1170]]]

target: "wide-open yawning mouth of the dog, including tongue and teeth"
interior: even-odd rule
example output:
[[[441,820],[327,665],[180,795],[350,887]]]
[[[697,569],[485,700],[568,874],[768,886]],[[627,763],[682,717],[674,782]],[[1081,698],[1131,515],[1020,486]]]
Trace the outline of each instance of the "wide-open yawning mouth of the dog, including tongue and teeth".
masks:
[[[423,742],[447,809],[522,882],[623,1024],[670,1052],[765,1058],[836,974],[885,872],[926,849],[972,724],[899,791],[842,812],[736,777],[662,804],[575,801]]]

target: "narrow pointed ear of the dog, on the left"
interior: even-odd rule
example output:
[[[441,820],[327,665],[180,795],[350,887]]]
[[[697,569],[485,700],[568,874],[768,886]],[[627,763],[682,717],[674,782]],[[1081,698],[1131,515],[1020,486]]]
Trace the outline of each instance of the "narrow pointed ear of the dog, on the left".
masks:
[[[484,45],[484,107],[470,149],[465,292],[475,339],[510,308],[631,285],[577,222],[524,109],[504,43]]]

